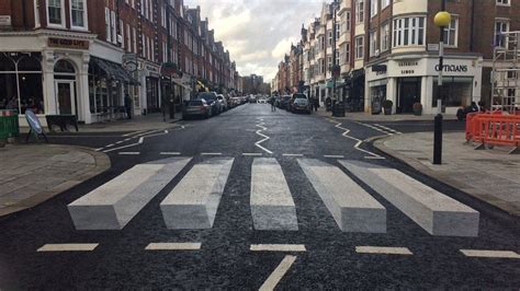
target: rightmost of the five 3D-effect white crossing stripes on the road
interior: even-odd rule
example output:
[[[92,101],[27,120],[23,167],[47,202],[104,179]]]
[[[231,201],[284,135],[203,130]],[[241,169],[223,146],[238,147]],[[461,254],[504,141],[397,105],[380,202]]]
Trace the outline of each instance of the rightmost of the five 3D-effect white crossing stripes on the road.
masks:
[[[477,236],[478,211],[389,167],[339,161],[432,235]]]

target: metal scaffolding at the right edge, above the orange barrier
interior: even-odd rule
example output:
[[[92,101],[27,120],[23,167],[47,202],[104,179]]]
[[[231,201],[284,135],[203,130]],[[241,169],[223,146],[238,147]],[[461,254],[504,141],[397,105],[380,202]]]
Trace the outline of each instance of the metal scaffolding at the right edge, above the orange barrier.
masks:
[[[520,32],[496,39],[491,72],[491,109],[515,114],[520,109]]]

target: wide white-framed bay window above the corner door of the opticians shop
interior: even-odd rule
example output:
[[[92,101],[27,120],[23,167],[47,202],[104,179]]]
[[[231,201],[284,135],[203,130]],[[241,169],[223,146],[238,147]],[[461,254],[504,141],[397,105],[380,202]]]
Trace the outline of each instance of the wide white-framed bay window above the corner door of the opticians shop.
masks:
[[[425,45],[425,18],[394,20],[394,47]]]

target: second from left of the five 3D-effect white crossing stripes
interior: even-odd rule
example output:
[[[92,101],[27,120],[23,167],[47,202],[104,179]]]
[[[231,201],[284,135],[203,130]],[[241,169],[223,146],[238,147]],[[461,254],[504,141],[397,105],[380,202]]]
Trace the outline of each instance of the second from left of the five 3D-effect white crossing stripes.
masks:
[[[160,203],[168,229],[213,228],[234,160],[214,158],[188,172]]]

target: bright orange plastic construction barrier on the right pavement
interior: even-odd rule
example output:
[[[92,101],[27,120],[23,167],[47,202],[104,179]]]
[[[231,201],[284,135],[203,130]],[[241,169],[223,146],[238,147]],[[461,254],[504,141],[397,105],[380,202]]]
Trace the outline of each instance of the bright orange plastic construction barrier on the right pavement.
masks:
[[[482,146],[509,146],[519,152],[520,115],[472,113],[466,116],[466,141]]]

